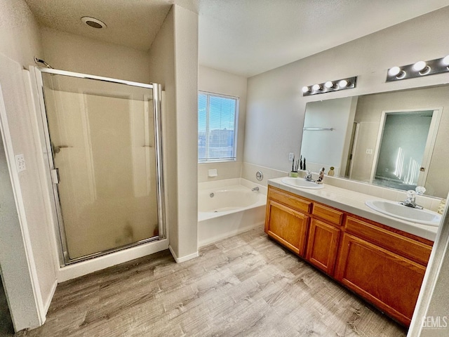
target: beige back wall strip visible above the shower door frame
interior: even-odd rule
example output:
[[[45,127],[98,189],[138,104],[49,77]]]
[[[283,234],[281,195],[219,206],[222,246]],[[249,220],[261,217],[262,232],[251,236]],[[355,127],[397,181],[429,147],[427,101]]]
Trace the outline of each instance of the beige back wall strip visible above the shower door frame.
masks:
[[[149,83],[145,51],[41,27],[43,59],[55,69]]]

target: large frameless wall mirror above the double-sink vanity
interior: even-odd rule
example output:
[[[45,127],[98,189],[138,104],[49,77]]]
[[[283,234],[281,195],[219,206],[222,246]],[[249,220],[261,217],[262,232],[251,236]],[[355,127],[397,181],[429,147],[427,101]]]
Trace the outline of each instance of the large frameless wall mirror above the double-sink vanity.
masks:
[[[309,102],[306,169],[398,190],[449,192],[449,86]],[[333,172],[330,171],[333,166]]]

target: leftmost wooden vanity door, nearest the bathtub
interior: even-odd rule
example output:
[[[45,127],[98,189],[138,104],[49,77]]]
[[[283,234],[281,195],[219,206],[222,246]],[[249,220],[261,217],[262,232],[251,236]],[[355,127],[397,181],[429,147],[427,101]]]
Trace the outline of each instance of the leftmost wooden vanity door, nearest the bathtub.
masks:
[[[268,199],[265,232],[304,257],[309,216]]]

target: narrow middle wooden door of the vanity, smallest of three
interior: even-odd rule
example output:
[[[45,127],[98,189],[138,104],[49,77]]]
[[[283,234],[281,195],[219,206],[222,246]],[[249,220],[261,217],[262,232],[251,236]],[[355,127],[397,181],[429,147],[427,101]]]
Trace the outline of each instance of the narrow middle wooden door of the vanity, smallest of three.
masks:
[[[339,239],[339,228],[312,219],[307,240],[306,259],[328,275],[333,275]]]

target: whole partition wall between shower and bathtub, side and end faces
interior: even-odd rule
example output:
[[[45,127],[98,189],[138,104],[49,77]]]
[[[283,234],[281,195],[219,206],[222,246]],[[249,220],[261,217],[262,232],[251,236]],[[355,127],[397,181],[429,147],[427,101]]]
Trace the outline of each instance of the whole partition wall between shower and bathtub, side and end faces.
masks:
[[[164,164],[170,251],[197,251],[198,15],[173,5],[149,51],[150,78],[166,91]]]

